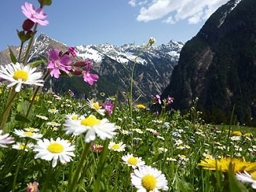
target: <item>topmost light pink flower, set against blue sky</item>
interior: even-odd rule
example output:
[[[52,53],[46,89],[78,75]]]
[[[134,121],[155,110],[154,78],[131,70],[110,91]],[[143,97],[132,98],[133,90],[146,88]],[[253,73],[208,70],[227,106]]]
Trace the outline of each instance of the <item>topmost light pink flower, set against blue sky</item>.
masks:
[[[47,26],[49,22],[43,20],[47,17],[47,14],[43,12],[43,9],[35,9],[34,6],[28,2],[21,6],[23,14],[31,21],[40,24],[41,26]]]

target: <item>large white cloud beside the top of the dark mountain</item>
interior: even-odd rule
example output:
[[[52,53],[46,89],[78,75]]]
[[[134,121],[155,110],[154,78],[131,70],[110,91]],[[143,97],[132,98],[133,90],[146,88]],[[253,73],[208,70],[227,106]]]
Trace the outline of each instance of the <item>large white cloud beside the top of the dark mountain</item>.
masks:
[[[130,2],[135,2],[135,0]],[[163,22],[173,24],[185,19],[189,24],[196,24],[208,19],[216,9],[226,2],[228,0],[151,0],[147,2],[141,0],[137,2],[138,5],[141,5],[137,21],[149,22],[163,19]]]

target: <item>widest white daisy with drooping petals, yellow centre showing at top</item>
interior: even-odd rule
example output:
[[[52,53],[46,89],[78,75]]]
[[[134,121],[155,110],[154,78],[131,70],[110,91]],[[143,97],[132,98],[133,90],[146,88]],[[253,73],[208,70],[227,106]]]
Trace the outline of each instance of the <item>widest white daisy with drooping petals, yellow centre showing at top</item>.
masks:
[[[81,117],[78,120],[67,119],[64,123],[66,134],[81,135],[85,133],[85,142],[95,140],[96,135],[102,140],[112,139],[113,135],[116,135],[115,130],[115,124],[110,123],[106,118],[100,120],[94,115],[89,115],[87,118]]]

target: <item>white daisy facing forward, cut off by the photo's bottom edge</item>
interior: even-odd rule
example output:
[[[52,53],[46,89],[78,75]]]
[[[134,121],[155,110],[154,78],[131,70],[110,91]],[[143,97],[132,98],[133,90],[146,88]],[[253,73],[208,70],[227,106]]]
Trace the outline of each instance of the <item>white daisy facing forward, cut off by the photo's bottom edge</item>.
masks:
[[[151,166],[139,166],[130,177],[138,192],[168,190],[168,181],[164,174]]]

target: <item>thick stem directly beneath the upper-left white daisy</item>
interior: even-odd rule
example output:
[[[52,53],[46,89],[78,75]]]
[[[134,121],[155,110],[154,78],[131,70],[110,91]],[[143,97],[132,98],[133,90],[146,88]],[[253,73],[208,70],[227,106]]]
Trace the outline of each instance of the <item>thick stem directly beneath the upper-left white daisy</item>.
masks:
[[[7,100],[7,103],[6,103],[6,106],[4,108],[4,110],[2,111],[2,115],[1,115],[1,118],[2,119],[2,122],[1,122],[1,130],[4,131],[5,129],[5,124],[7,122],[7,119],[9,117],[9,113],[10,113],[10,110],[11,110],[11,107],[12,107],[12,101],[14,100],[14,98],[16,98],[16,91],[15,91],[15,87],[12,87],[12,90],[9,94],[9,98]]]

